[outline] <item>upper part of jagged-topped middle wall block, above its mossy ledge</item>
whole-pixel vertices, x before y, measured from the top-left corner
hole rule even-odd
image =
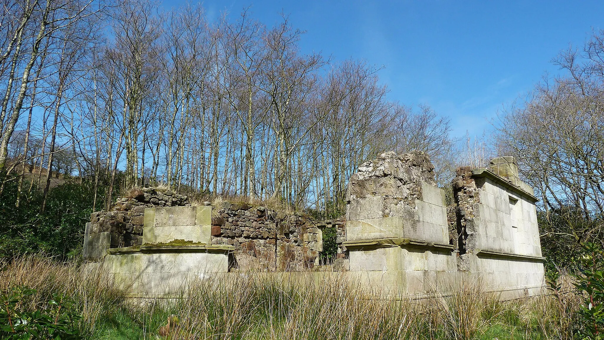
[[[448,244],[445,193],[433,170],[419,151],[387,152],[362,164],[348,187],[347,241],[404,237]]]

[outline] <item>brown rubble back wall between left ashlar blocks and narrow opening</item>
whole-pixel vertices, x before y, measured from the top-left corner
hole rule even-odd
[[[225,202],[212,220],[212,243],[233,245],[236,268],[277,271],[312,268],[322,250],[321,231],[299,213],[287,215]]]

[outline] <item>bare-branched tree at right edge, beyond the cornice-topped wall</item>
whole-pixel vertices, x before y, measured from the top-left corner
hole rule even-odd
[[[565,74],[545,78],[498,126],[499,153],[518,158],[541,198],[542,237],[575,245],[601,239],[604,226],[603,57],[602,31],[583,51],[564,51]]]

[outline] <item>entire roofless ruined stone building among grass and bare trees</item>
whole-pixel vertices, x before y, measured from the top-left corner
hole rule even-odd
[[[345,271],[400,297],[476,281],[503,298],[535,295],[544,281],[536,197],[512,157],[458,168],[452,202],[422,152],[384,153],[350,178],[344,219],[313,221],[225,202],[191,207],[184,196],[133,190],[86,226],[84,257],[129,281],[137,297],[165,297],[216,272]],[[324,228],[335,228],[335,265],[318,266]]]

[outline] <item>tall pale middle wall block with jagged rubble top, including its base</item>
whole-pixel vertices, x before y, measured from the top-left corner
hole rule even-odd
[[[432,170],[425,153],[389,152],[350,178],[344,246],[361,280],[405,295],[457,274],[445,193]]]

